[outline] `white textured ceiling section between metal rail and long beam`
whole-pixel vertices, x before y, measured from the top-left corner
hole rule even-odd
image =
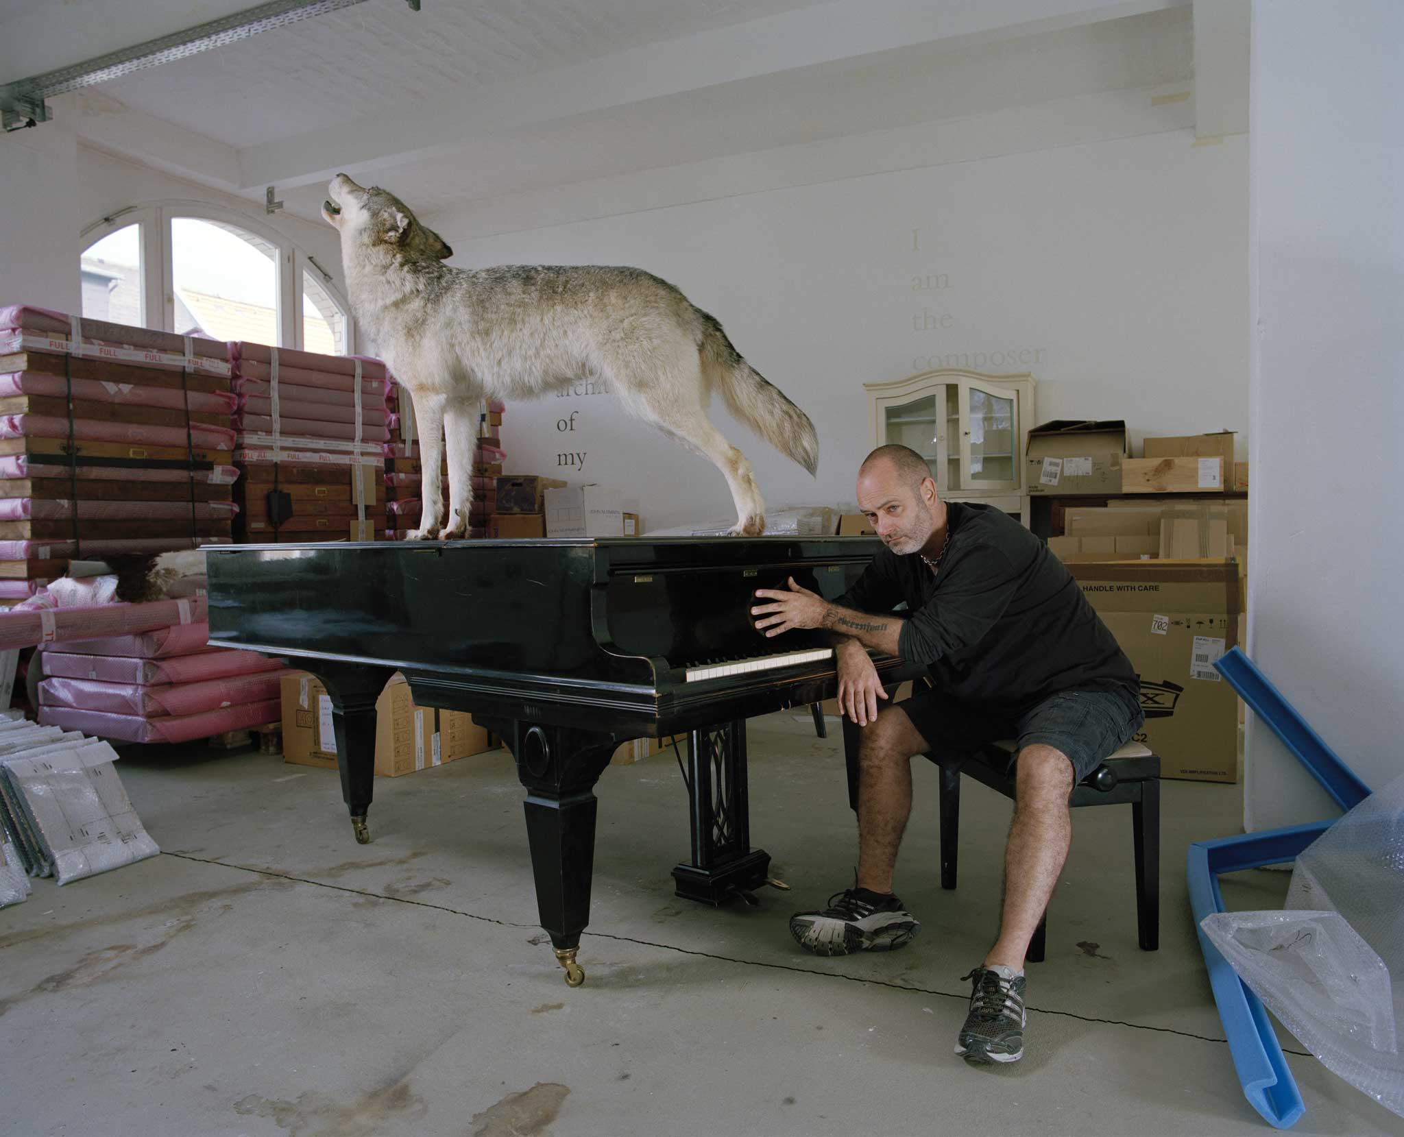
[[[234,147],[463,105],[504,80],[823,0],[366,0],[104,84]]]

